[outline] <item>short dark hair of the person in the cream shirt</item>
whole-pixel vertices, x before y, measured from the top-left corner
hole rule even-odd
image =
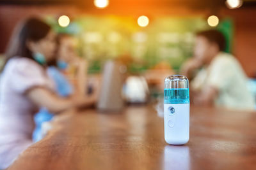
[[[208,41],[216,43],[219,46],[220,51],[225,51],[227,42],[224,35],[220,31],[215,29],[200,31],[196,33],[196,36],[204,36],[204,38],[206,38]]]

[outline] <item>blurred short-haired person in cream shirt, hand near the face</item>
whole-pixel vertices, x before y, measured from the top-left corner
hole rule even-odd
[[[181,69],[191,80],[191,101],[201,106],[253,110],[255,101],[246,87],[246,74],[239,61],[224,52],[225,47],[220,31],[197,33],[194,57]]]

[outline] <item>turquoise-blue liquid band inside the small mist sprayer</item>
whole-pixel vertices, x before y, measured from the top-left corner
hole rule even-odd
[[[165,104],[189,103],[189,89],[164,89]]]

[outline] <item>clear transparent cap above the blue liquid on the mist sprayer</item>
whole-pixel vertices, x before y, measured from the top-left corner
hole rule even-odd
[[[188,89],[188,78],[182,75],[168,76],[164,80],[164,89]]]

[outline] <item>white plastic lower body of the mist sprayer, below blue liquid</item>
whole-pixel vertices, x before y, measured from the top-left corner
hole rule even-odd
[[[170,107],[174,108],[174,113]],[[164,139],[170,145],[188,143],[189,104],[164,104]]]

